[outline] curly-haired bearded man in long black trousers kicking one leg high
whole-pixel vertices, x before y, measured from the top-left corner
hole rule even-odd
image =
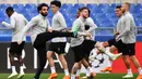
[[[76,31],[74,32],[60,32],[50,29],[49,21],[46,18],[48,14],[48,5],[46,3],[42,3],[38,5],[37,10],[39,14],[33,17],[29,23],[23,28],[21,31],[21,37],[19,37],[17,43],[21,44],[23,37],[26,36],[28,31],[32,39],[33,47],[37,50],[39,66],[35,74],[34,79],[39,79],[42,71],[44,70],[46,64],[46,41],[55,38],[55,37],[75,37]]]

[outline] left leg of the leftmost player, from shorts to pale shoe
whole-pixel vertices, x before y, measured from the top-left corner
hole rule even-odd
[[[16,69],[15,69],[15,61],[14,61],[16,45],[17,45],[16,42],[11,42],[9,57],[10,57],[12,74],[8,78],[12,78],[17,75]]]

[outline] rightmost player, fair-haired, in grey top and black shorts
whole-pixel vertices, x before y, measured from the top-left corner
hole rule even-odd
[[[117,36],[116,40],[118,40],[118,42],[125,43],[123,45],[125,49],[121,47],[125,50],[125,52],[122,53],[122,58],[128,70],[128,74],[122,78],[133,77],[133,75],[131,74],[130,61],[127,56],[129,55],[130,60],[132,61],[132,63],[134,64],[134,66],[139,71],[139,76],[137,79],[142,79],[142,68],[140,66],[138,58],[135,57],[137,27],[133,16],[129,12],[129,9],[130,3],[125,2],[121,8],[123,16],[121,17],[119,24],[117,25],[119,35]]]

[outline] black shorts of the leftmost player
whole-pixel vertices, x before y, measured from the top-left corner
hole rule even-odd
[[[22,55],[22,50],[24,49],[25,41],[23,41],[21,44],[17,44],[17,42],[11,42],[10,44],[10,53]]]

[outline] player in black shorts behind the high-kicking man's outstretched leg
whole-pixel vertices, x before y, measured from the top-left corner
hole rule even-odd
[[[59,9],[61,6],[61,2],[60,1],[51,1],[50,5],[51,5],[52,13],[54,13],[52,26],[51,26],[52,30],[58,30],[58,31],[64,30],[67,28],[67,24],[66,24],[63,15],[59,12]],[[52,55],[55,53],[58,54],[58,58],[63,66],[63,69],[64,69],[63,79],[70,79],[68,64],[67,64],[67,61],[66,61],[64,54],[63,54],[66,52],[64,51],[66,42],[67,42],[66,37],[61,37],[61,38],[54,38],[51,40],[51,43],[49,44],[49,49],[47,52],[47,60],[49,62],[51,75],[48,77],[48,79],[52,79],[52,78],[57,77],[55,63],[52,60]]]

